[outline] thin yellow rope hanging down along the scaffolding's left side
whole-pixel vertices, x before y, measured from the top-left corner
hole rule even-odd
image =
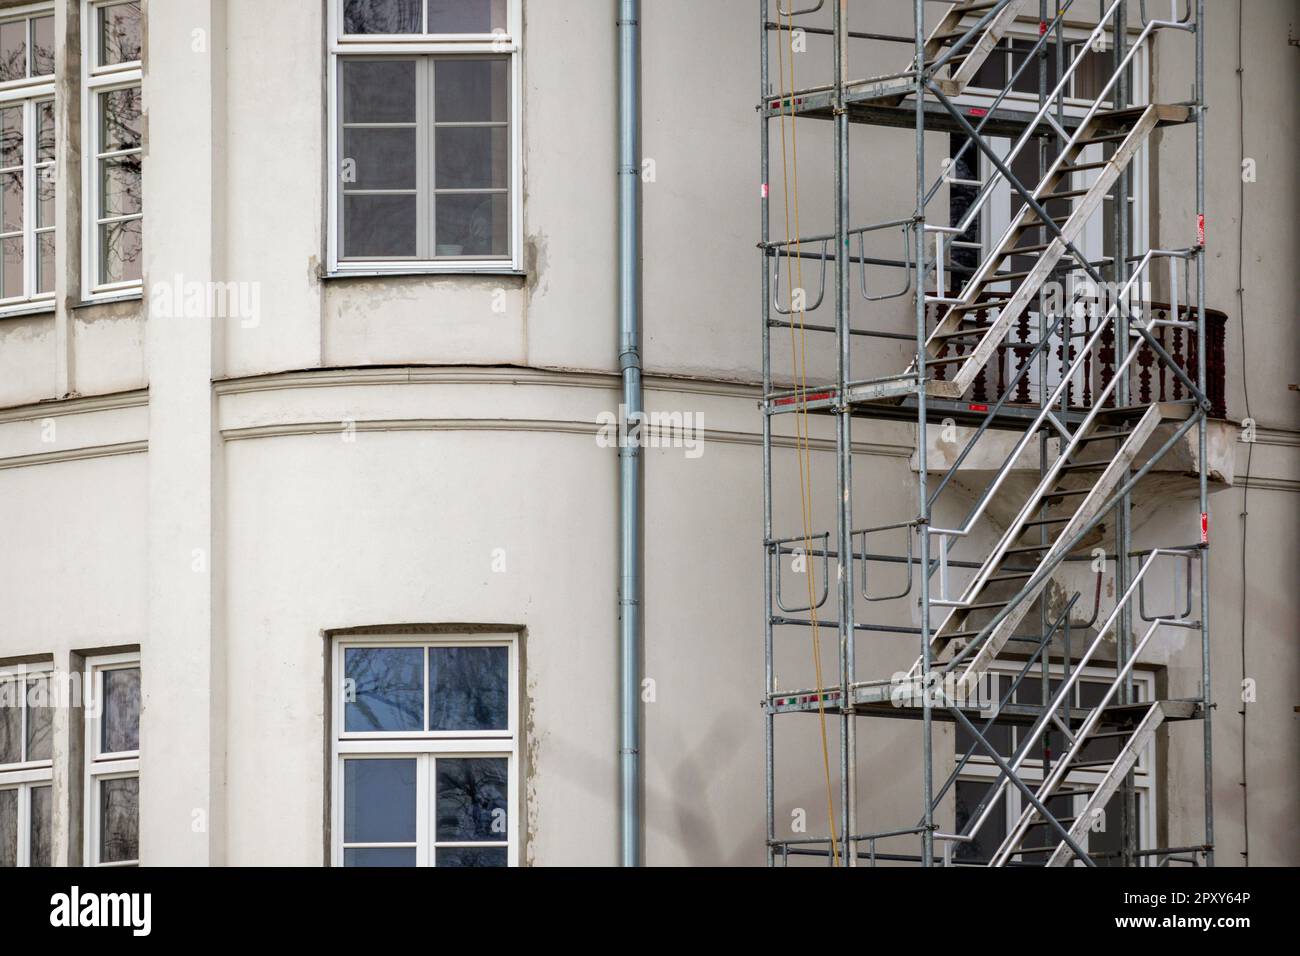
[[[793,8],[793,5],[792,5]],[[786,29],[784,31],[777,30],[777,43],[776,43],[776,56],[777,56],[777,75],[780,77],[779,91],[781,95],[781,112],[780,112],[780,126],[781,126],[781,186],[783,198],[785,204],[785,289],[786,297],[789,297],[789,326],[790,326],[790,364],[792,376],[796,380],[794,386],[794,401],[798,403],[798,412],[794,415],[794,436],[796,436],[796,450],[800,459],[800,516],[803,522],[803,559],[809,561],[809,551],[812,546],[812,450],[809,441],[809,412],[807,412],[807,329],[803,324],[803,306],[806,293],[803,293],[803,258],[800,255],[800,150],[798,150],[798,131],[796,129],[794,120],[794,53],[790,53],[790,96],[789,96],[789,109],[790,109],[790,157],[786,159],[785,150],[785,43],[793,36],[794,17],[793,13],[786,12]],[[780,7],[777,7],[777,26],[780,26]],[[793,183],[792,183],[793,179]],[[792,235],[790,235],[790,198],[793,195],[794,200],[794,235],[793,235],[793,248],[792,248]],[[792,261],[793,260],[793,261]],[[780,268],[780,267],[777,267]],[[796,276],[797,273],[797,276]],[[796,278],[798,285],[796,286]],[[794,334],[794,290],[798,287],[800,303],[798,303],[798,337]],[[829,542],[828,542],[829,544]],[[780,555],[777,555],[780,557]],[[842,555],[841,555],[842,561]],[[816,670],[816,711],[818,722],[822,728],[822,770],[826,777],[826,810],[827,810],[827,825],[831,834],[831,862],[835,866],[840,865],[840,847],[838,840],[835,836],[835,791],[831,787],[831,747],[827,740],[826,730],[826,701],[823,700],[823,676],[822,676],[822,643],[818,627],[816,617],[816,591],[812,581],[812,567],[811,564],[805,564],[805,578],[809,585],[809,614],[811,622],[812,632],[812,663]],[[829,587],[829,581],[827,583]],[[842,692],[841,689],[841,706],[842,706]]]

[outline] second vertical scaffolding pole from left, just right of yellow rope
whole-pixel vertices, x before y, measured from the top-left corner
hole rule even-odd
[[[857,803],[857,728],[849,706],[853,682],[853,415],[845,401],[850,377],[849,333],[849,112],[844,103],[844,85],[849,78],[849,0],[835,5],[835,328],[837,358],[838,408],[835,418],[836,473],[838,483],[838,568],[840,568],[840,847],[848,866],[857,865],[853,847]]]

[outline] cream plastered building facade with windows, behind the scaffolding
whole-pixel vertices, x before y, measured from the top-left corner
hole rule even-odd
[[[754,7],[656,0],[641,22],[656,865],[766,857]],[[909,4],[853,8],[909,29]],[[1216,861],[1249,842],[1295,864],[1296,25],[1283,0],[1209,8]],[[0,3],[0,862],[616,861],[615,35],[588,0]],[[1139,75],[1190,83],[1160,43]],[[1188,245],[1167,135],[1135,219]],[[854,215],[906,215],[910,169],[879,157],[909,134],[871,146]],[[824,172],[801,173],[807,234]],[[862,499],[902,506],[909,427],[853,438]],[[775,467],[797,492],[796,458]],[[1179,477],[1139,498],[1139,533],[1178,536]],[[880,641],[878,675],[915,656]],[[1199,693],[1183,650],[1140,682]],[[807,685],[806,650],[783,653]],[[898,723],[859,740],[880,830],[919,805]],[[816,731],[790,734],[779,817],[816,819]],[[1199,839],[1187,749],[1141,765],[1150,845]]]

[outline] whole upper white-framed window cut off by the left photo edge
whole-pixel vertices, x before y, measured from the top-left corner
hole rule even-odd
[[[0,10],[0,311],[55,298],[55,9]]]

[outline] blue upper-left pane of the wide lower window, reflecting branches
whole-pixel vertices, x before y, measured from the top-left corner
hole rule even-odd
[[[343,728],[424,730],[422,671],[422,648],[347,648]]]

